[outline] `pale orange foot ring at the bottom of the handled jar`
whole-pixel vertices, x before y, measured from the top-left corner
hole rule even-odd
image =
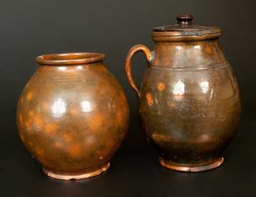
[[[178,164],[172,161],[164,161],[163,158],[159,158],[159,162],[162,166],[168,169],[173,169],[176,171],[189,171],[189,172],[198,172],[198,171],[207,171],[209,169],[214,169],[220,166],[224,161],[224,157],[220,157],[211,162],[204,162],[198,164]]]

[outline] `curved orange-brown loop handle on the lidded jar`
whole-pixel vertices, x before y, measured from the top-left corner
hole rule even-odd
[[[133,79],[132,79],[132,72],[131,72],[131,59],[132,56],[134,56],[134,54],[138,51],[143,51],[147,61],[150,63],[152,61],[152,52],[148,49],[148,47],[146,47],[145,45],[135,45],[134,47],[132,47],[127,56],[126,56],[126,60],[125,60],[125,73],[127,76],[127,79],[130,83],[130,85],[132,86],[132,88],[136,91],[138,98],[140,99],[140,90],[138,88],[138,86],[136,86],[136,84],[134,83]]]

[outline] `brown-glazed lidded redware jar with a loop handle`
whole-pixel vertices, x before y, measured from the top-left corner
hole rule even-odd
[[[195,26],[188,13],[178,24],[154,28],[154,52],[136,45],[125,70],[139,100],[143,132],[161,164],[179,171],[205,171],[223,162],[239,123],[239,88],[218,43],[220,28]],[[148,69],[139,89],[131,58],[143,51]]]

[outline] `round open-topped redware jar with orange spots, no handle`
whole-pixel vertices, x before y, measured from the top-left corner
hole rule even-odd
[[[101,53],[49,54],[22,91],[19,136],[50,177],[99,175],[129,124],[127,99]]]

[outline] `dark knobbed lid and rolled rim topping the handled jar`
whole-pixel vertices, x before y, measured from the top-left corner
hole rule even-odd
[[[219,37],[221,35],[221,29],[218,27],[205,27],[205,26],[193,25],[192,24],[193,17],[189,13],[182,13],[178,15],[176,19],[177,19],[177,24],[175,25],[161,26],[161,27],[154,28],[152,32],[153,40],[156,40],[156,41],[207,40],[207,39]]]

